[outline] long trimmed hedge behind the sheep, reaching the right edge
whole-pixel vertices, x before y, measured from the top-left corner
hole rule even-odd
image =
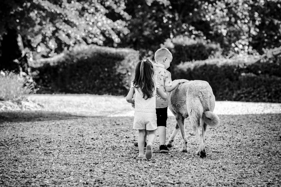
[[[281,64],[254,56],[218,58],[177,65],[173,79],[205,80],[218,101],[281,103]]]

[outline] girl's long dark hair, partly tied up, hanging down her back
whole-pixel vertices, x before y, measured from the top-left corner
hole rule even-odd
[[[140,88],[140,90],[143,92],[143,98],[145,100],[153,96],[153,91],[155,89],[153,74],[153,65],[149,58],[138,62],[133,84],[135,88]]]

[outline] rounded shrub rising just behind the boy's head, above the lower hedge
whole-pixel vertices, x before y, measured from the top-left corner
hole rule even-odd
[[[207,43],[202,39],[191,39],[189,37],[177,36],[167,39],[161,47],[168,48],[173,54],[173,63],[192,60],[205,60],[209,57],[220,55],[220,45]]]

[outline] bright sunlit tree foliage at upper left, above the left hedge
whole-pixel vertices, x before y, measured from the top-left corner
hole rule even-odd
[[[70,1],[70,0],[4,0],[1,3],[0,37],[7,28],[16,30],[27,48],[39,57],[53,56],[75,44],[99,44],[106,39],[114,43],[128,30],[125,22],[107,18],[114,10],[124,20],[122,1]]]

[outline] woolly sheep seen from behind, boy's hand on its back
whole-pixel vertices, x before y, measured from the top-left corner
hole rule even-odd
[[[215,108],[215,96],[211,86],[206,81],[189,81],[179,84],[169,93],[168,97],[169,109],[176,117],[177,124],[170,136],[167,146],[169,148],[172,147],[174,138],[180,129],[183,138],[183,144],[180,151],[188,151],[184,119],[189,117],[199,141],[199,150],[197,154],[201,158],[206,157],[204,144],[207,125],[212,127],[220,122],[217,115],[213,113]],[[202,131],[200,130],[200,124]]]

